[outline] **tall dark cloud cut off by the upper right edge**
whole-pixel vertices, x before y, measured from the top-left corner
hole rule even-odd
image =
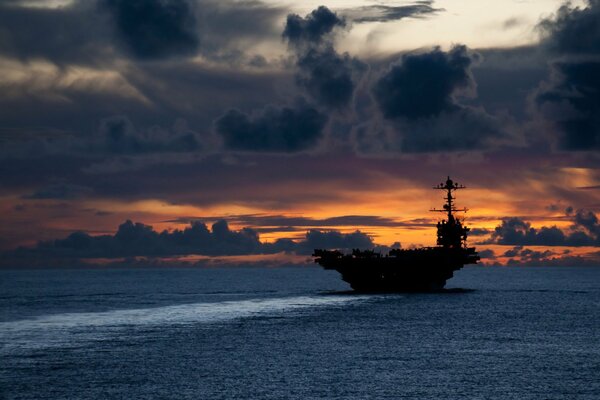
[[[558,57],[533,96],[542,117],[558,130],[562,150],[600,148],[600,1],[563,5],[539,25],[542,46]]]

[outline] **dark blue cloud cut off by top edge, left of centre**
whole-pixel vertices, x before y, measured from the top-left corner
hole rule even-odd
[[[124,47],[137,58],[190,55],[199,47],[194,10],[187,0],[101,0]]]

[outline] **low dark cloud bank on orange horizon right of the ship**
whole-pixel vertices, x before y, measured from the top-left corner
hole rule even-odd
[[[529,222],[513,217],[502,221],[485,243],[515,246],[598,246],[600,224],[590,211],[578,210],[569,232],[551,226],[533,228]]]

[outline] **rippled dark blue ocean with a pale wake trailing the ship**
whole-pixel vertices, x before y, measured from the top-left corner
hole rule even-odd
[[[600,399],[600,268],[1,270],[2,399]]]

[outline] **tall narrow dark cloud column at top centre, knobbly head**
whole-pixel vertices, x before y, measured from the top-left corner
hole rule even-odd
[[[288,15],[283,31],[283,37],[296,54],[298,85],[315,101],[332,109],[350,104],[355,81],[366,69],[359,60],[335,51],[332,32],[344,26],[342,18],[321,6],[305,18]]]

